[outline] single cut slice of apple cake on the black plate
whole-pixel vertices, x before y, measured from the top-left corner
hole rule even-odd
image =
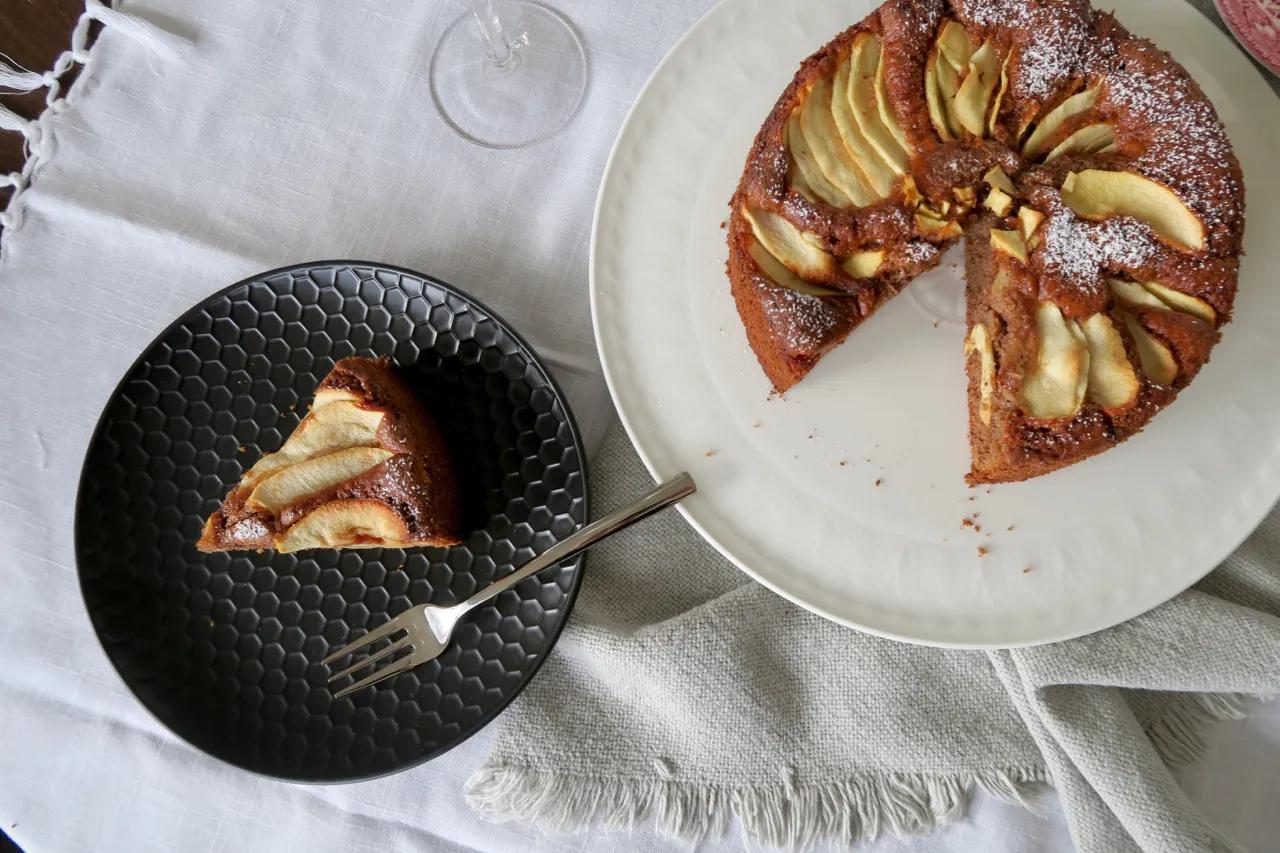
[[[461,542],[435,421],[387,359],[343,359],[297,429],[205,523],[201,551],[408,548]]]

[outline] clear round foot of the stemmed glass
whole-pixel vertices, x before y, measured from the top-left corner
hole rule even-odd
[[[530,0],[494,3],[511,60],[485,54],[480,24],[449,24],[431,56],[431,100],[461,137],[490,149],[518,149],[554,134],[586,92],[586,51],[558,12]]]

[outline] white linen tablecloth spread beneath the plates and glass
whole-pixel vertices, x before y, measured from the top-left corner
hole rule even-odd
[[[129,18],[108,22],[65,109],[28,128],[41,163],[0,256],[0,829],[29,853],[690,849],[484,822],[462,786],[490,733],[358,785],[221,765],[133,699],[76,584],[72,498],[111,388],[174,316],[261,269],[365,257],[453,282],[532,339],[603,434],[595,188],[644,79],[709,0],[557,5],[593,79],[570,128],[524,151],[470,146],[435,115],[428,59],[463,5],[430,0],[124,0]],[[234,143],[212,158],[211,138]],[[1212,736],[1189,788],[1238,840],[1275,849],[1280,708]],[[1051,803],[1041,817],[979,794],[968,821],[869,849],[1068,850]]]

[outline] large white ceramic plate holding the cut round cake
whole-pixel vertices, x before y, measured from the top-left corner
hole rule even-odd
[[[692,471],[699,493],[681,511],[760,583],[897,639],[1044,643],[1185,589],[1280,494],[1276,96],[1192,6],[1116,6],[1199,81],[1243,163],[1235,320],[1146,432],[989,492],[964,484],[964,328],[948,319],[961,316],[959,250],[785,400],[769,398],[724,277],[721,222],[760,122],[800,60],[873,4],[724,0],[645,86],[596,205],[596,343],[650,471]],[[980,532],[961,526],[974,514]]]

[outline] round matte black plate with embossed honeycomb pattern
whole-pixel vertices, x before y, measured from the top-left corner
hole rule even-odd
[[[202,555],[205,516],[276,450],[338,359],[392,356],[462,485],[456,548]],[[273,776],[355,780],[492,720],[556,642],[581,558],[458,626],[436,661],[334,699],[320,660],[410,607],[458,602],[586,520],[577,425],[511,327],[453,287],[358,261],[255,275],[166,329],[115,389],[76,507],[81,589],[108,657],[174,733]],[[339,683],[346,684],[346,681]]]

